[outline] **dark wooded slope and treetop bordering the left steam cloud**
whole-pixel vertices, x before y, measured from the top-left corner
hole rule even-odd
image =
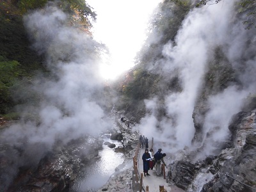
[[[90,35],[96,14],[84,1],[47,1],[47,0],[4,0],[0,2],[0,115],[18,118],[13,113],[15,106],[40,100],[40,95],[26,90],[27,97],[13,97],[33,83],[38,72],[51,76],[44,65],[44,55],[39,55],[32,47],[24,28],[23,16],[28,12],[54,3],[70,15],[70,26],[80,28]],[[76,17],[74,17],[76,16]]]

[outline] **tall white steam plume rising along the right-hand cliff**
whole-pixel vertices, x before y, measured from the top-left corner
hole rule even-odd
[[[256,47],[252,42],[255,30],[244,30],[242,23],[245,19],[236,18],[234,3],[236,1],[221,1],[219,4],[191,10],[179,29],[176,44],[170,42],[164,45],[162,52],[165,60],[156,61],[157,64],[153,65],[152,72],[160,68],[161,75],[166,78],[178,71],[182,92],[165,96],[166,116],[172,118],[163,118],[160,122],[157,122],[154,112],[159,106],[157,98],[145,100],[148,113],[137,128],[145,136],[154,136],[154,141],[169,143],[161,146],[169,152],[185,146],[191,147],[195,133],[193,109],[207,71],[207,62],[212,60],[211,50],[214,47],[223,48],[242,86],[238,88],[230,85],[208,99],[210,108],[204,118],[204,138],[207,132],[214,131],[214,134],[211,140],[202,141],[202,145],[207,143],[205,154],[212,154],[213,143],[225,140],[232,115],[239,112],[243,99],[255,92]]]

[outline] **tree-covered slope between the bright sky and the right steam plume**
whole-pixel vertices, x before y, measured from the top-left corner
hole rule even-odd
[[[164,81],[159,74],[147,70],[149,65],[155,65],[156,61],[164,59],[163,46],[170,41],[175,41],[177,31],[189,12],[190,1],[166,0],[159,4],[159,10],[152,15],[152,22],[148,26],[148,38],[136,57],[134,67],[125,79],[120,80],[120,109],[132,111],[133,115],[145,114],[144,99],[157,95],[163,99],[168,91],[179,92],[181,90],[178,77],[170,81]]]

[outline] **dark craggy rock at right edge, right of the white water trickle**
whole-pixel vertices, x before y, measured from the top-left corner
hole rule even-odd
[[[222,150],[209,171],[214,178],[204,184],[206,191],[256,191],[255,113],[240,112],[233,117],[229,129],[233,148]]]

